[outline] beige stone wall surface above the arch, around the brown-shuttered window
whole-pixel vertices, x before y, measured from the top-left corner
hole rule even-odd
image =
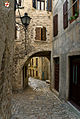
[[[27,61],[31,54],[37,53],[39,51],[51,51],[52,43],[52,13],[46,10],[40,11],[32,7],[32,0],[24,0],[23,9],[20,9],[21,16],[25,12],[32,18],[30,25],[27,29],[27,50],[25,51],[25,32],[20,26],[20,34],[15,41],[15,77],[13,82],[14,89],[21,89],[23,85],[21,70],[24,63]],[[18,10],[16,10],[16,16],[19,17]],[[19,18],[16,21],[21,24]],[[35,40],[35,28],[37,26],[46,27],[46,41],[36,41]],[[19,32],[18,32],[19,33]],[[27,54],[27,55],[26,55]]]

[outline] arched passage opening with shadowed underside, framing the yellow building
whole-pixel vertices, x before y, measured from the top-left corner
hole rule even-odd
[[[28,86],[29,77],[44,81],[50,80],[50,55],[50,52],[38,52],[30,56],[24,63],[22,68],[23,89]],[[47,67],[47,65],[49,66]]]

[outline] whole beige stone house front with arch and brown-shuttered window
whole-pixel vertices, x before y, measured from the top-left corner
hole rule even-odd
[[[15,75],[13,90],[23,89],[23,87],[27,85],[27,83],[25,83],[25,86],[23,86],[22,69],[25,64],[26,66],[28,65],[31,57],[40,55],[46,56],[50,59],[52,47],[52,11],[51,9],[47,10],[47,0],[44,0],[44,2],[41,3],[42,6],[38,6],[38,8],[38,1],[35,1],[35,5],[34,1],[35,0],[23,0],[19,6],[20,9],[16,10],[17,38],[15,40]],[[20,15],[23,16],[24,13],[28,13],[28,16],[31,17],[31,21],[26,32],[26,49],[25,32],[22,25],[20,25],[21,20],[19,18]]]

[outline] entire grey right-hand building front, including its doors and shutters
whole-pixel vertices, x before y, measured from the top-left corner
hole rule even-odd
[[[52,51],[54,92],[80,106],[80,0],[54,0]]]

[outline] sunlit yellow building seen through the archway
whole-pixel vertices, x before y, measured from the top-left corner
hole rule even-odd
[[[46,57],[33,57],[28,64],[28,77],[50,80],[50,61]]]

